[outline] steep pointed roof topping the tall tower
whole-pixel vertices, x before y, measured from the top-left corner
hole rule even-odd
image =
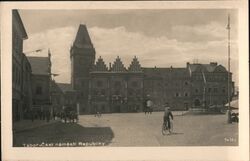
[[[86,25],[80,24],[73,46],[78,48],[93,48]]]

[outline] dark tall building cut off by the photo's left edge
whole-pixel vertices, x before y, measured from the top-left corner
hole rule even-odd
[[[17,10],[12,10],[12,117],[23,119],[31,108],[31,66],[23,53],[28,35]]]

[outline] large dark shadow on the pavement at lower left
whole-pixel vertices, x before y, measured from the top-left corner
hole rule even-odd
[[[114,133],[110,127],[83,127],[76,123],[54,123],[13,134],[14,147],[105,146]]]

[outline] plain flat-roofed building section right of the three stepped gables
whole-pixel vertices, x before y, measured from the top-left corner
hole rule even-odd
[[[164,109],[168,103],[172,109],[191,107],[191,81],[186,68],[143,68],[144,97],[150,96],[155,110]]]

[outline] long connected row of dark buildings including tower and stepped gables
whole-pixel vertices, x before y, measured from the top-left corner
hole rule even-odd
[[[117,57],[108,66],[95,48],[85,25],[80,25],[70,50],[71,85],[80,113],[143,111],[149,97],[154,110],[168,103],[173,109],[224,105],[228,102],[228,72],[215,62],[184,68],[144,68],[131,58],[129,67]],[[234,82],[230,73],[230,93]]]

